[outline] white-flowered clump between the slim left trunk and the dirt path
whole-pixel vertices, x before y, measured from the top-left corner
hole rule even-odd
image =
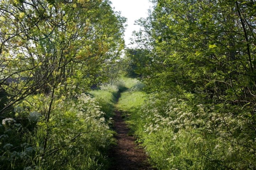
[[[77,100],[73,101],[65,98],[55,101],[48,125],[51,131],[48,134],[48,147],[44,151],[45,161],[37,161],[40,169],[63,166],[64,162],[65,169],[75,166],[103,169],[106,165],[104,152],[114,141],[104,118],[105,113],[90,95],[82,93],[76,97]],[[38,126],[36,141],[43,141],[47,127],[44,122]]]

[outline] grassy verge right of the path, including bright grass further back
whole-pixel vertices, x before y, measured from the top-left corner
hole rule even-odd
[[[154,168],[249,169],[246,168],[248,164],[241,161],[238,165],[237,161],[249,157],[246,161],[255,166],[254,157],[244,154],[244,148],[238,143],[232,147],[232,143],[223,142],[219,133],[224,132],[213,133],[210,126],[215,124],[211,124],[212,119],[221,115],[206,111],[203,105],[192,107],[175,94],[162,92],[146,95],[139,90],[139,82],[134,81],[126,79],[129,89],[121,93],[117,108],[124,111],[123,117],[126,117],[131,133],[145,148]],[[233,119],[226,118],[225,121],[233,124]],[[235,153],[237,158],[233,156]]]

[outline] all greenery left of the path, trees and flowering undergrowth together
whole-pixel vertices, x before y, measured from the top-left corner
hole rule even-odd
[[[0,169],[106,169],[109,116],[85,92],[117,75],[125,21],[108,0],[0,1]]]

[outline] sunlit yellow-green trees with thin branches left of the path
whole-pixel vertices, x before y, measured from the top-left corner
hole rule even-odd
[[[49,145],[54,101],[74,98],[92,84],[108,81],[103,70],[124,48],[125,21],[108,0],[0,2],[0,116],[25,122],[24,134],[36,133],[26,129],[29,115],[14,110],[23,103],[36,108],[29,98],[43,96],[42,157],[54,148]],[[13,135],[22,138],[20,132]]]

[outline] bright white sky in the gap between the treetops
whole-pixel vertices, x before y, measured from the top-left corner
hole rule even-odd
[[[152,7],[152,3],[149,0],[111,0],[114,11],[121,11],[121,16],[127,18],[126,32],[124,33],[124,40],[126,41],[127,47],[130,43],[129,38],[132,38],[132,32],[138,31],[139,26],[134,25],[134,21],[139,18],[145,18],[148,16],[148,9]]]

